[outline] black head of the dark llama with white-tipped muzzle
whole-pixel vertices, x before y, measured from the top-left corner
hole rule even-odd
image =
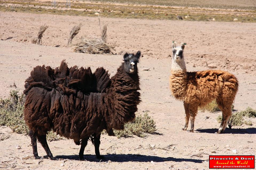
[[[135,55],[132,53],[124,54],[124,71],[128,74],[137,73],[137,63],[139,63],[140,51]]]

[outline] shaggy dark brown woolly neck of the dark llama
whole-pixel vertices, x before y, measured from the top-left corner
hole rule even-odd
[[[112,112],[109,113],[109,128],[123,129],[124,124],[135,118],[140,103],[138,74],[129,75],[123,70],[124,64],[111,78],[111,87],[107,91],[107,100]]]

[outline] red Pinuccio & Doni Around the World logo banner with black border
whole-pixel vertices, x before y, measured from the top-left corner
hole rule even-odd
[[[209,155],[210,169],[254,169],[255,156]]]

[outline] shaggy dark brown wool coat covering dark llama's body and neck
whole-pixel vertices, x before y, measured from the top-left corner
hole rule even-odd
[[[29,129],[39,135],[53,129],[76,144],[104,129],[109,135],[123,129],[140,102],[139,77],[125,73],[123,65],[111,79],[102,67],[94,73],[90,67],[68,68],[64,61],[56,69],[35,67],[24,90]]]

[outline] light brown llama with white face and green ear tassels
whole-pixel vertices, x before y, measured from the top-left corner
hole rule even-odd
[[[231,106],[237,94],[238,80],[233,74],[221,70],[187,72],[183,50],[184,44],[180,47],[176,47],[175,43],[172,44],[172,75],[170,77],[173,96],[184,103],[186,121],[183,130],[187,130],[190,118],[190,132],[193,132],[198,107],[216,99],[222,111],[222,121],[216,133],[223,133],[232,114]]]

